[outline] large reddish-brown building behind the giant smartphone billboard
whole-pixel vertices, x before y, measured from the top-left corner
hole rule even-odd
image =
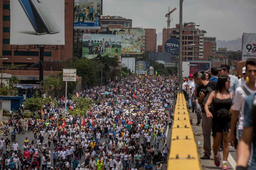
[[[73,57],[73,8],[74,1],[65,0],[65,45],[45,46],[47,48],[44,51],[45,76],[58,74],[65,67],[65,63],[62,61]],[[9,0],[3,0],[0,3],[0,39],[0,53],[4,58],[8,58],[8,60],[4,60],[4,65],[27,65],[4,71],[5,73],[23,77],[24,75],[39,75],[39,64],[34,65],[39,60],[39,49],[35,48],[34,45],[10,45]],[[27,58],[32,59],[27,60]],[[31,79],[31,81],[35,83],[36,80]]]

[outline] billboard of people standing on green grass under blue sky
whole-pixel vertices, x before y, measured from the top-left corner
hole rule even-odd
[[[121,35],[112,34],[83,34],[82,57],[91,59],[109,55],[120,60],[121,55]]]

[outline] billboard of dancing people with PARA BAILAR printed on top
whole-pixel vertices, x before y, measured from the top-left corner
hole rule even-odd
[[[74,1],[74,29],[100,29],[101,1]]]

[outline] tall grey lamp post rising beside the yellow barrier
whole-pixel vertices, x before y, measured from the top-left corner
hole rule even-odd
[[[182,1],[180,0],[180,56],[179,56],[179,74],[178,74],[178,81],[179,81],[179,93],[182,94]]]

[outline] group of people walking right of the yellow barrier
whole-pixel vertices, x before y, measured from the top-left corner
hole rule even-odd
[[[242,78],[230,75],[230,67],[221,64],[210,72],[201,70],[189,75],[183,83],[189,109],[196,112],[197,125],[202,123],[201,159],[210,159],[213,151],[214,163],[222,170],[228,169],[229,145],[237,149],[237,170],[256,169],[255,76],[256,60],[250,58],[242,69]]]

